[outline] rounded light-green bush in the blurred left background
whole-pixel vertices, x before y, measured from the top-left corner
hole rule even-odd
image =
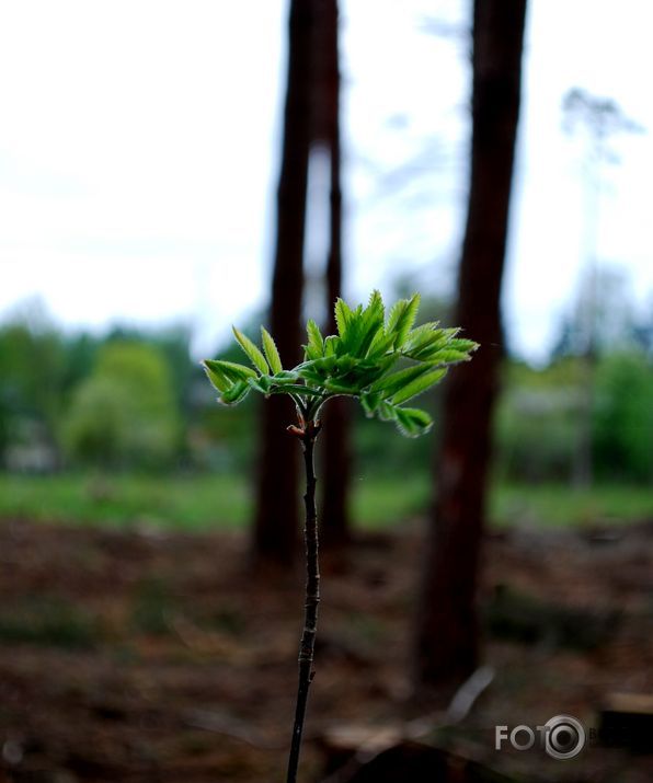
[[[106,345],[76,390],[61,435],[73,460],[148,468],[169,462],[179,419],[162,356],[137,343]]]

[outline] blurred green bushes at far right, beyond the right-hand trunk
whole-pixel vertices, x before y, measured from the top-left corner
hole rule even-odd
[[[582,423],[586,366],[576,357],[541,370],[509,362],[496,416],[502,479],[569,481]],[[608,354],[593,372],[593,465],[596,476],[653,477],[653,367],[641,353]]]

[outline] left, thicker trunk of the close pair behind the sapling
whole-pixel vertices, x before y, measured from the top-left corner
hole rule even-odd
[[[270,325],[284,366],[300,361],[303,238],[311,140],[313,0],[291,0],[276,249]],[[295,411],[285,396],[262,406],[261,451],[252,553],[256,564],[287,565],[298,540],[298,449],[286,426]]]

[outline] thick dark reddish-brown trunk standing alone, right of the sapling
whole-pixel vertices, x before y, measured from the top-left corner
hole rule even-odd
[[[502,357],[501,280],[526,0],[476,0],[470,192],[454,323],[481,343],[444,390],[436,499],[421,586],[416,687],[447,700],[479,664],[477,586]]]

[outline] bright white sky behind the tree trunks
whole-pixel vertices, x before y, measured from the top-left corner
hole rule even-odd
[[[450,284],[468,49],[421,23],[467,14],[458,0],[344,3],[352,298],[400,269]],[[264,302],[285,16],[285,0],[0,0],[0,313],[39,295],[71,326],[184,319],[206,353]],[[561,130],[571,87],[651,129],[614,142],[599,256],[641,299],[653,290],[652,21],[641,0],[530,2],[504,301],[511,344],[534,359],[583,254],[580,145]]]

